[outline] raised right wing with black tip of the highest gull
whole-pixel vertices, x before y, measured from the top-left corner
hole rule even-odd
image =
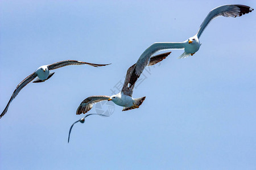
[[[197,37],[199,38],[201,36],[209,22],[217,16],[237,17],[248,14],[251,11],[253,11],[253,8],[245,5],[222,5],[214,8],[209,12],[207,17],[204,19],[204,22],[200,25],[199,31],[197,32]]]

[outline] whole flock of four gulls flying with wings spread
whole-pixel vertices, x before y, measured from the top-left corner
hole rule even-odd
[[[237,16],[248,14],[251,11],[253,11],[253,8],[245,5],[222,5],[214,8],[209,12],[207,17],[204,19],[203,23],[200,25],[199,31],[197,31],[195,36],[189,37],[189,39],[183,42],[155,42],[141,54],[137,63],[129,67],[129,69],[127,70],[125,82],[123,83],[121,92],[113,96],[87,97],[84,101],[82,101],[82,103],[77,108],[76,114],[87,113],[88,111],[90,111],[90,109],[92,109],[94,103],[98,103],[102,100],[113,101],[115,104],[123,107],[122,111],[128,111],[130,109],[139,108],[139,106],[143,103],[146,97],[140,97],[136,99],[133,98],[133,88],[137,79],[142,74],[146,66],[155,65],[156,63],[165,59],[171,53],[171,52],[167,52],[167,53],[162,53],[157,56],[154,56],[156,52],[159,52],[161,50],[184,49],[184,53],[181,54],[179,58],[187,58],[189,56],[193,56],[193,54],[195,54],[199,50],[201,46],[199,38],[211,20],[213,20],[217,16],[236,18]],[[51,76],[54,74],[54,72],[49,73],[49,70],[54,70],[54,69],[58,69],[60,67],[69,66],[69,65],[90,65],[94,67],[99,67],[99,66],[106,66],[109,64],[96,64],[96,63],[88,63],[88,62],[81,62],[81,61],[75,61],[75,60],[66,60],[66,61],[56,62],[51,65],[40,66],[38,69],[35,70],[34,73],[32,73],[31,75],[28,75],[27,78],[25,78],[24,80],[22,80],[22,82],[18,84],[15,91],[13,92],[13,95],[11,95],[11,99],[7,103],[6,108],[3,110],[2,114],[0,115],[0,118],[6,114],[11,104],[11,101],[13,101],[16,95],[18,95],[19,91],[22,90],[22,88],[25,87],[28,83],[32,82],[32,80],[34,80],[35,78],[36,79],[34,80],[33,83],[44,82],[49,78],[51,78]],[[90,115],[92,114],[87,114],[85,117]],[[85,120],[85,117],[81,118],[79,121],[76,121],[76,122],[83,123]],[[71,129],[73,125],[71,126]],[[71,129],[69,130],[69,135],[71,133]],[[68,137],[68,140],[69,140],[69,137]]]

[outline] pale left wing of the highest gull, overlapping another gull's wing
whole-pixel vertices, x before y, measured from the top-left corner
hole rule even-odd
[[[150,45],[139,57],[136,67],[135,73],[137,75],[141,75],[144,68],[148,65],[150,61],[150,57],[161,50],[170,50],[170,49],[184,49],[184,42],[155,42]]]

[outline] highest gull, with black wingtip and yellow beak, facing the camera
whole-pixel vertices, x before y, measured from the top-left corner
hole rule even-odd
[[[159,52],[160,50],[168,50],[168,49],[184,49],[184,53],[181,54],[179,58],[187,58],[188,56],[193,56],[199,48],[200,48],[200,41],[199,38],[203,33],[204,29],[210,23],[211,20],[216,18],[217,16],[225,16],[225,17],[234,17],[242,16],[244,14],[248,14],[249,12],[253,11],[254,9],[245,6],[245,5],[222,5],[217,8],[214,8],[209,12],[207,17],[204,19],[204,22],[201,24],[199,31],[196,33],[195,36],[190,37],[189,39],[183,42],[155,42],[151,46],[149,46],[139,57],[137,61],[137,66],[135,67],[136,75],[140,75],[147,66],[148,61],[152,54]],[[133,84],[134,82],[130,82]]]

